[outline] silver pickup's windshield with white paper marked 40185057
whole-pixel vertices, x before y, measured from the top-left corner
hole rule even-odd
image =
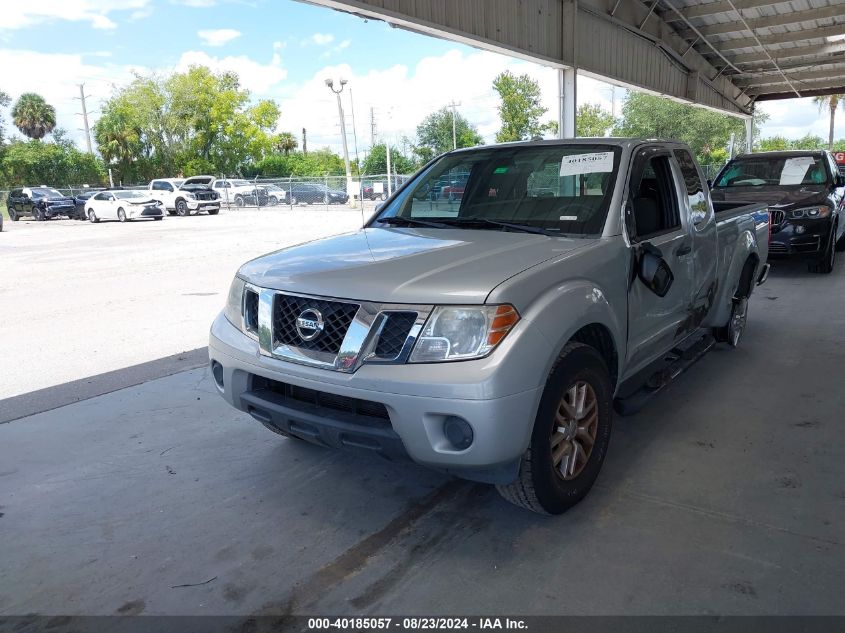
[[[598,235],[620,154],[607,145],[560,144],[449,154],[417,176],[376,221]]]

